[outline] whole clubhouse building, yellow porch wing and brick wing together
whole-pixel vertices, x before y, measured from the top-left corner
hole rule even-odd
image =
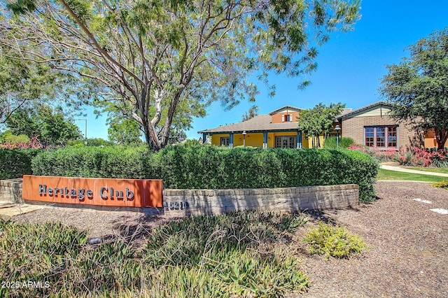
[[[397,122],[389,113],[393,104],[377,101],[357,108],[345,109],[335,119],[342,130],[340,136],[349,137],[356,143],[374,150],[398,150],[424,146],[437,147],[434,132],[417,134],[412,127]],[[250,120],[200,131],[202,140],[216,146],[252,146],[260,148],[311,148],[311,141],[298,129],[297,117],[302,108],[282,106],[267,115]],[[334,125],[334,126],[335,126]],[[335,135],[336,132],[331,135]],[[323,145],[323,136],[320,140]],[[445,146],[448,146],[448,141]]]

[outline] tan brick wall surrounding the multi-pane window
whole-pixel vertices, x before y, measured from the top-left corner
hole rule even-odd
[[[398,146],[409,148],[419,143],[419,136],[409,126],[398,123],[392,118],[383,116],[366,116],[342,118],[342,136],[355,140],[356,143],[364,144],[364,127],[375,125],[398,125]]]

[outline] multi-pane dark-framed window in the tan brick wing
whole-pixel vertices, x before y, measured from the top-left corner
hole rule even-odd
[[[397,126],[365,127],[365,146],[373,148],[396,148]]]

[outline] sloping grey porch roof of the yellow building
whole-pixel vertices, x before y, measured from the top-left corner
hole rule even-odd
[[[205,129],[198,132],[199,134],[218,134],[218,133],[239,133],[239,132],[269,132],[269,131],[291,131],[298,129],[296,122],[272,123],[271,115],[258,115],[247,121],[235,123],[232,125],[224,125],[211,129]]]

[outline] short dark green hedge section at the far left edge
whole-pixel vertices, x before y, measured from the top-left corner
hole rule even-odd
[[[40,149],[0,149],[0,180],[31,174],[31,159]]]

